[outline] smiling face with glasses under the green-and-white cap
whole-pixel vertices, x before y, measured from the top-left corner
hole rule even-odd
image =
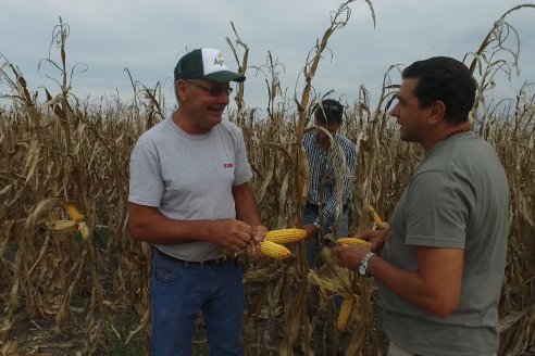
[[[181,115],[177,124],[188,134],[202,135],[223,119],[223,111],[229,102],[228,82],[206,79],[177,80],[175,90]]]

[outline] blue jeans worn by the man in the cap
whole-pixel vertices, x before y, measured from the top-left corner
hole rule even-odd
[[[195,319],[204,316],[211,356],[244,355],[244,283],[239,263],[191,265],[153,253],[150,280],[153,356],[189,356]]]

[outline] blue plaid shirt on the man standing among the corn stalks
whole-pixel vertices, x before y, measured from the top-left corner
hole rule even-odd
[[[327,150],[320,147],[316,132],[309,132],[302,139],[310,169],[307,202],[323,206],[323,219],[318,220],[323,226],[332,226],[335,221],[337,195],[338,199],[341,199],[343,206],[348,206],[351,202],[352,181],[357,170],[354,144],[338,134],[334,139],[336,147],[331,147]],[[339,168],[335,168],[335,166],[339,166]],[[336,179],[340,178],[344,181],[338,181],[338,185],[343,185],[344,191],[337,194]]]

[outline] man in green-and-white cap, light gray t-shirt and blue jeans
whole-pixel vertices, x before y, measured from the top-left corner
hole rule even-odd
[[[211,355],[244,355],[241,268],[225,251],[261,255],[261,225],[241,130],[223,119],[244,81],[215,49],[185,54],[175,71],[178,109],[141,135],[130,157],[128,228],[154,245],[152,355],[190,355],[202,312]]]

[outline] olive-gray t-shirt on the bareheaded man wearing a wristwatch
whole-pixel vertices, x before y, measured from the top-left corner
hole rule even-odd
[[[509,188],[490,144],[458,134],[426,153],[390,219],[384,258],[418,269],[416,246],[464,250],[461,297],[447,318],[381,285],[384,327],[399,346],[422,355],[492,355],[499,343]]]

